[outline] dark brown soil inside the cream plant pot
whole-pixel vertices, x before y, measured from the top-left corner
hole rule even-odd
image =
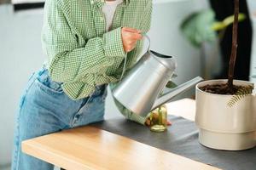
[[[237,91],[240,88],[251,88],[253,89],[253,87],[244,87],[244,86],[233,86],[233,89],[228,88],[228,84],[227,83],[223,83],[223,84],[207,84],[206,86],[201,87],[200,89],[204,92],[210,93],[210,94],[230,94],[230,95],[234,95],[237,93]]]

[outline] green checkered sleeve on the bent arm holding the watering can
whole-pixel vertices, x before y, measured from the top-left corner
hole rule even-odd
[[[77,82],[88,74],[104,73],[115,57],[125,58],[120,27],[85,42],[79,32],[72,31],[57,2],[45,2],[42,31],[49,75],[55,82]]]

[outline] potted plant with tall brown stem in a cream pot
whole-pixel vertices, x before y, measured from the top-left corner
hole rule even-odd
[[[239,0],[235,0],[227,80],[209,80],[196,86],[195,123],[199,141],[218,150],[246,150],[256,145],[256,98],[253,83],[234,80]]]

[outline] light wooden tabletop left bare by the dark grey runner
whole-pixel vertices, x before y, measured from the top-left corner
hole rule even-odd
[[[195,107],[194,100],[183,99],[167,105],[171,114],[179,113],[185,118],[195,111],[178,108],[189,107]],[[67,170],[218,169],[90,126],[23,141],[22,150]]]

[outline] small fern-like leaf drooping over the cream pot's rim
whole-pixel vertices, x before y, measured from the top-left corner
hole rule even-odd
[[[253,93],[253,86],[246,86],[246,87],[241,87],[238,89],[236,94],[232,96],[230,101],[228,102],[228,105],[232,107],[235,105],[238,101],[241,99],[245,98],[247,95],[250,95]]]

